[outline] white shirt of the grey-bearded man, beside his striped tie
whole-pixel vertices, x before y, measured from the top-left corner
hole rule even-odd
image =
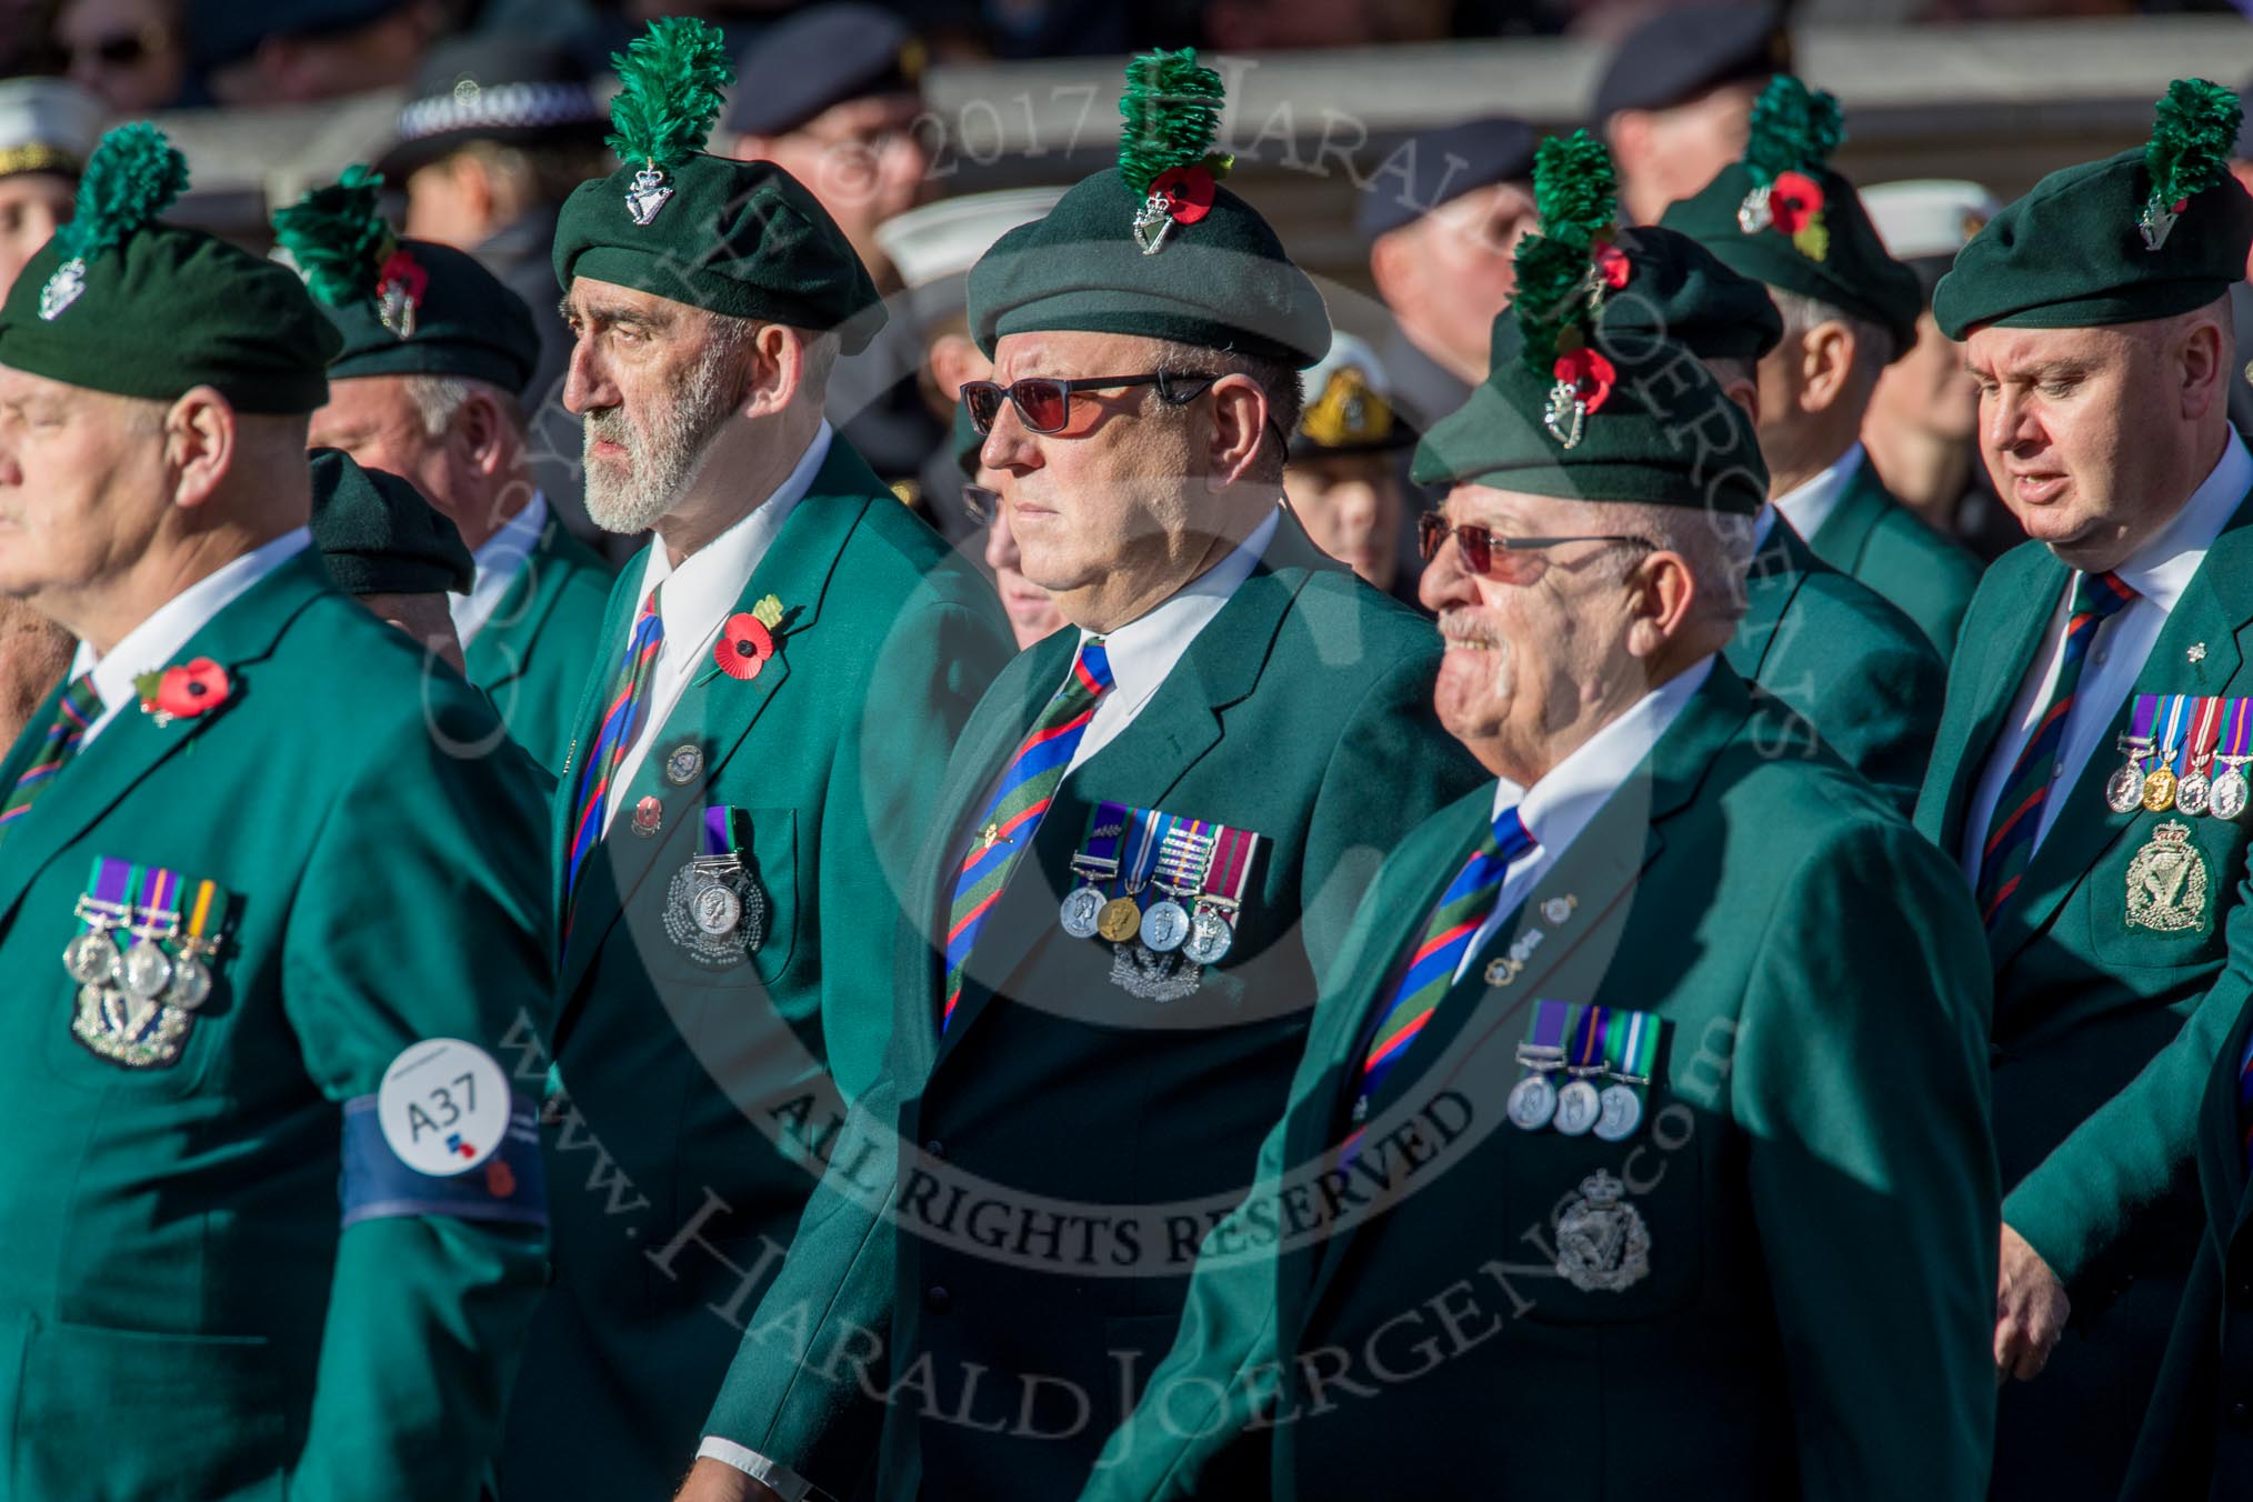
[[[642,734],[626,748],[626,759],[617,763],[617,777],[611,779],[604,799],[602,826],[606,831],[617,817],[617,806],[626,799],[626,788],[633,786],[633,775],[649,757],[649,748],[658,743],[667,716],[680,705],[689,680],[712,660],[719,628],[734,615],[743,585],[750,583],[750,572],[759,567],[759,558],[775,543],[782,522],[791,520],[791,511],[813,489],[813,475],[829,457],[829,437],[831,430],[825,421],[775,493],[734,527],[683,558],[680,567],[674,567],[662,538],[651,540],[649,563],[642,565],[642,588],[633,594],[635,606],[629,622],[640,617],[649,592],[662,583],[665,599],[658,615],[665,619],[665,642],[658,646],[658,660],[649,664],[649,718],[642,721]],[[631,640],[631,624],[626,635]],[[617,660],[611,660],[604,671],[615,676]]]

